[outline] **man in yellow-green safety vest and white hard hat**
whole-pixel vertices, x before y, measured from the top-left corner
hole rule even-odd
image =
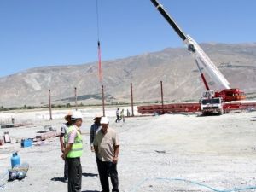
[[[61,155],[68,165],[68,192],[80,192],[82,185],[82,166],[80,157],[83,154],[83,141],[80,131],[83,116],[79,111],[71,116],[72,126],[67,130],[67,147]]]

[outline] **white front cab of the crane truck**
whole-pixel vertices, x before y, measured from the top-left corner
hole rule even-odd
[[[222,115],[224,113],[224,100],[222,97],[215,97],[215,92],[213,90],[203,92],[200,105],[202,115],[210,115],[214,113]]]

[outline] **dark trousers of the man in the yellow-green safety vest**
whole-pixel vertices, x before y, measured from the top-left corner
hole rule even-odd
[[[67,158],[68,192],[80,192],[82,185],[82,166],[80,158]]]

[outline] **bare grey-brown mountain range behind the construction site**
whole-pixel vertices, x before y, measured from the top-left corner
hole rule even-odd
[[[256,98],[256,43],[201,44],[201,47],[232,88],[240,88],[248,98]],[[194,59],[183,48],[103,61],[102,70],[107,102],[129,102],[131,82],[135,102],[159,101],[160,80],[167,102],[198,101],[205,90]],[[207,79],[212,90],[218,90],[216,84]],[[38,67],[3,77],[0,106],[45,105],[49,89],[53,103],[73,102],[74,87],[78,90],[79,103],[101,102],[96,62]]]

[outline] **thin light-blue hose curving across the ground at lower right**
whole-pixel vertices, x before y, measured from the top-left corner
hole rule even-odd
[[[161,181],[167,181],[167,182],[177,181],[177,182],[191,183],[191,184],[200,186],[202,188],[210,189],[210,190],[215,191],[215,192],[236,192],[236,191],[245,191],[245,190],[249,190],[249,189],[255,189],[256,190],[256,186],[247,186],[247,187],[244,187],[244,188],[234,188],[234,189],[224,189],[224,190],[221,190],[221,189],[212,188],[211,186],[208,186],[208,185],[203,184],[203,183],[197,183],[197,182],[190,181],[190,180],[183,179],[183,178],[161,178],[161,177],[155,177],[155,178],[145,178],[142,182],[138,183],[131,190],[131,192],[137,192],[137,190],[143,185],[143,183],[146,183],[149,180],[161,180]]]

